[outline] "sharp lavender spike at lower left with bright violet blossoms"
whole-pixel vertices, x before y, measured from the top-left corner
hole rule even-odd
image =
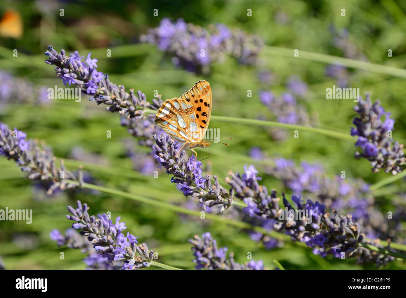
[[[155,251],[148,250],[147,244],[143,243],[139,246],[137,238],[127,232],[127,236],[123,234],[125,223],[120,223],[120,217],[117,217],[114,224],[109,215],[98,214],[97,218],[87,213],[87,204],[78,201],[78,208],[74,209],[68,206],[68,211],[72,215],[67,215],[66,218],[76,221],[72,225],[74,229],[80,230],[79,234],[87,236],[91,241],[96,252],[106,258],[112,264],[113,261],[124,262],[123,270],[133,270],[149,267],[151,260],[154,257]],[[136,253],[140,254],[137,256]]]

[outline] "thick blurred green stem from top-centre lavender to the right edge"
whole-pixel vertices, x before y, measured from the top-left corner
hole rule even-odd
[[[318,54],[299,49],[299,56],[294,57],[294,49],[287,49],[284,47],[265,46],[263,49],[264,54],[272,56],[285,56],[293,59],[305,59],[317,62],[324,62],[328,64],[340,64],[354,69],[361,69],[364,71],[371,71],[373,73],[381,73],[384,75],[391,75],[394,77],[406,78],[406,70],[382,64],[370,63],[355,59],[342,58],[326,54]]]

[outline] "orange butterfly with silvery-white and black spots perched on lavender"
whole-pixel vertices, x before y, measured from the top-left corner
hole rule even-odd
[[[210,145],[203,137],[211,114],[212,89],[208,81],[202,80],[181,97],[166,99],[155,116],[155,124],[174,139],[185,142],[178,152],[186,146],[196,154],[196,161],[193,148]]]

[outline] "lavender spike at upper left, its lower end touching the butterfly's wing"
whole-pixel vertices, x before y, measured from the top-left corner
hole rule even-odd
[[[63,49],[60,53],[58,54],[51,45],[45,52],[48,56],[45,62],[56,66],[56,75],[66,84],[80,86],[84,94],[92,95],[91,101],[95,101],[98,105],[102,103],[107,105],[108,111],[119,112],[123,116],[121,125],[126,126],[132,135],[142,138],[140,144],[152,146],[151,135],[160,134],[162,130],[154,125],[155,115],[145,114],[144,109],[158,110],[162,105],[161,97],[158,96],[158,99],[153,99],[152,103],[149,103],[140,90],[136,94],[133,89],[130,89],[130,93],[125,92],[124,86],[113,84],[108,79],[108,74],[94,68],[97,66],[97,59],[91,59],[90,53],[86,63],[81,61],[84,56],[80,56],[78,51],[71,53],[69,57],[65,56]]]

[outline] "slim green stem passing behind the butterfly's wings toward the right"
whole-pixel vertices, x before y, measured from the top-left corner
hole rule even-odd
[[[156,113],[157,111],[152,109],[144,109],[144,113],[151,114]],[[302,130],[302,131],[310,131],[313,133],[320,133],[322,135],[328,135],[330,137],[336,137],[338,139],[350,139],[353,140],[354,138],[350,135],[350,133],[341,133],[339,131],[330,131],[328,129],[320,129],[311,126],[303,126],[303,125],[296,125],[296,124],[286,124],[274,121],[266,121],[266,120],[257,120],[257,119],[246,119],[246,118],[236,118],[236,117],[227,117],[227,116],[216,116],[212,115],[212,120],[217,121],[224,121],[224,122],[232,122],[232,123],[239,123],[239,124],[251,124],[251,125],[259,125],[259,126],[276,126],[276,127],[283,127],[286,129],[295,129],[295,130]]]

